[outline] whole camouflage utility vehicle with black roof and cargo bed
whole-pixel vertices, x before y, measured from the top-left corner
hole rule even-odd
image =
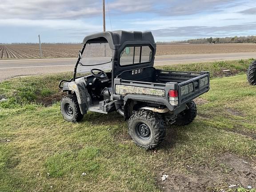
[[[68,121],[86,112],[117,111],[140,147],[155,148],[167,124],[187,125],[196,117],[192,101],[209,90],[209,72],[164,71],[153,67],[156,43],[151,32],[100,32],[86,36],[61,112]],[[92,68],[91,66],[100,66]],[[102,69],[110,69],[104,72]],[[85,75],[91,69],[90,75]],[[93,131],[93,130],[92,130]]]

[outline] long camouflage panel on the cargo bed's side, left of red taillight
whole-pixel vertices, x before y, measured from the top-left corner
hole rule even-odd
[[[116,85],[116,94],[128,95],[129,93],[151,96],[165,96],[165,91],[162,89],[135,87],[129,85]]]

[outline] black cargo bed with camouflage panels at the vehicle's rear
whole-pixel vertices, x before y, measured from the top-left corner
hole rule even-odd
[[[125,79],[126,76],[131,76],[130,73],[134,74],[134,80]],[[138,75],[140,79],[136,78]],[[119,77],[122,78],[114,80],[114,97],[120,99],[120,96],[124,98],[131,94],[161,97],[156,100],[164,98],[169,101],[168,105],[172,105],[172,107],[169,106],[172,110],[208,92],[210,88],[209,72],[177,72],[148,68],[140,73],[139,70],[138,72],[126,71]],[[170,98],[170,90],[177,91],[178,95],[175,99]],[[171,100],[178,102],[171,102]]]

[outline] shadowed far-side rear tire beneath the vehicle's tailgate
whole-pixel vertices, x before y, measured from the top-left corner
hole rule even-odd
[[[181,112],[176,119],[176,125],[188,125],[196,118],[197,109],[194,101],[187,103],[188,108]]]

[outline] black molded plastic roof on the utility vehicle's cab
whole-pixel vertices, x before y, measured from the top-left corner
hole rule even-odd
[[[86,43],[104,43],[108,42],[111,49],[119,49],[126,41],[147,41],[156,47],[154,37],[151,32],[127,32],[127,31],[112,31],[99,32],[84,38],[83,44]],[[145,42],[146,43],[146,42]]]

